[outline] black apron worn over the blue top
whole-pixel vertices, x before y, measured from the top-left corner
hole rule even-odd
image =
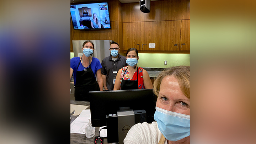
[[[79,64],[78,64],[78,67],[79,67]],[[94,77],[94,73],[91,69],[91,63],[89,65],[89,68],[86,69],[86,71],[84,70],[77,71],[77,70],[78,68],[76,69],[75,100],[90,101],[89,91],[100,91],[98,82],[96,81]]]

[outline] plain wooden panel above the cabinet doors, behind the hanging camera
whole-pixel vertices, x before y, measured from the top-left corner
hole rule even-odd
[[[140,11],[139,0],[122,5],[123,22],[169,21],[190,19],[190,0],[150,1],[150,12]]]

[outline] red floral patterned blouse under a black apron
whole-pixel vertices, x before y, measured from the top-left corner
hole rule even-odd
[[[120,80],[121,80],[121,82],[120,82],[120,90],[121,90],[122,78],[124,80],[137,80],[137,70],[134,72],[132,79],[130,79],[129,72],[128,72],[128,70],[126,70],[127,67],[128,66],[125,66],[125,67],[122,68],[122,72],[121,72],[121,76],[120,76]],[[124,74],[125,70],[126,70],[126,73]],[[142,73],[143,72],[143,68],[140,68],[138,66],[138,71],[139,71],[139,76],[138,76],[138,79],[139,79],[139,81],[138,81],[139,89],[145,89],[145,86],[143,85],[143,73]],[[124,77],[123,77],[123,75],[124,75]]]

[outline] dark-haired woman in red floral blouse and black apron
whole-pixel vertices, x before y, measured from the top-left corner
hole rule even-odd
[[[138,50],[130,48],[126,52],[128,66],[118,70],[114,90],[153,89],[149,74],[143,68],[137,66]]]

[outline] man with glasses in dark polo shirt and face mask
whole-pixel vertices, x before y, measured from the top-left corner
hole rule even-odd
[[[119,44],[117,42],[112,42],[110,44],[110,56],[104,58],[101,62],[101,74],[105,90],[114,89],[114,82],[118,70],[127,66],[126,57],[120,55],[119,52]]]

